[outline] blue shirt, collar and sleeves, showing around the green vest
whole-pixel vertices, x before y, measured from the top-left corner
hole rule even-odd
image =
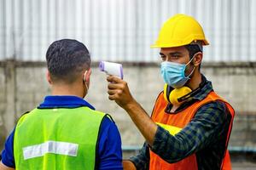
[[[95,108],[76,96],[46,96],[44,102],[38,106],[38,109],[45,108],[77,108],[87,106],[92,110]],[[2,162],[7,167],[15,168],[14,157],[14,134],[15,129],[10,133],[5,142],[2,152]],[[119,130],[115,123],[105,116],[99,130],[99,143],[97,149],[98,169],[123,169],[122,167],[122,150]]]

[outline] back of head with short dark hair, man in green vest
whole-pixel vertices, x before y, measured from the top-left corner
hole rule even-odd
[[[90,68],[90,54],[82,42],[61,39],[50,44],[46,53],[51,82],[72,84]]]

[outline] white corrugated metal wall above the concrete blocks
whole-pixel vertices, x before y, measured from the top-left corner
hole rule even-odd
[[[0,60],[44,61],[50,42],[84,42],[93,60],[157,61],[163,21],[193,15],[208,62],[256,61],[254,0],[0,0]]]

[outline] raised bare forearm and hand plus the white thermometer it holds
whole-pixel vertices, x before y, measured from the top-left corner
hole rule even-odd
[[[122,65],[102,61],[100,63],[100,70],[105,71],[109,75],[107,77],[107,81],[110,82],[108,83],[108,99],[114,100],[129,114],[131,120],[143,133],[148,144],[152,146],[157,125],[150,119],[143,107],[131,96],[127,82],[123,80]]]

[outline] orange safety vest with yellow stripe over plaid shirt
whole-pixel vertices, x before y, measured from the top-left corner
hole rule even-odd
[[[228,136],[226,139],[226,148],[229,143],[230,139],[230,132],[232,128],[232,122],[235,116],[235,111],[233,110],[232,106],[227,103],[224,99],[220,98],[217,94],[213,91],[207,95],[205,99],[201,101],[195,102],[195,104],[190,105],[183,111],[179,111],[177,114],[167,114],[165,112],[166,105],[168,103],[164,99],[163,93],[161,93],[154,105],[154,111],[152,114],[152,120],[159,124],[161,127],[164,127],[166,130],[169,131],[172,135],[178,133],[183,127],[185,127],[195,116],[197,110],[201,108],[202,105],[206,105],[209,102],[221,100],[227,106],[231,114],[231,121]],[[149,162],[149,169],[150,170],[196,170],[197,161],[195,154],[184,158],[181,161],[177,161],[175,163],[168,163],[154,154],[153,151],[150,150],[150,162]],[[231,163],[230,163],[230,154],[228,150],[225,150],[224,159],[222,161],[222,170],[230,170]]]

